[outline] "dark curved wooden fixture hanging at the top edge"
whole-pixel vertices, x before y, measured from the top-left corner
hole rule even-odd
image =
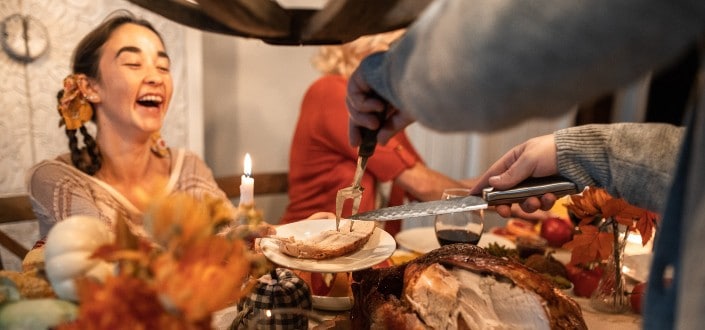
[[[274,45],[321,45],[404,28],[433,0],[330,0],[320,10],[283,8],[272,0],[129,1],[203,31]]]

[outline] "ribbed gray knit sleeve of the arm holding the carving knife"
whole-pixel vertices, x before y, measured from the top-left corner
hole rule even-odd
[[[662,210],[683,138],[668,124],[585,125],[555,132],[558,171],[585,186],[650,210]]]

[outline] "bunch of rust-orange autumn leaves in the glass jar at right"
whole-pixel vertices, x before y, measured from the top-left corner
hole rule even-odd
[[[639,232],[642,245],[649,242],[656,226],[655,213],[613,198],[601,188],[590,187],[582,195],[572,195],[565,206],[580,219],[579,233],[563,245],[572,250],[570,262],[574,265],[607,260],[624,242],[620,242],[619,225],[626,226],[627,232]]]

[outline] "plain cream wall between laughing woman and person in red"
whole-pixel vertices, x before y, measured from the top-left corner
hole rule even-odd
[[[216,177],[242,174],[245,153],[255,173],[288,171],[299,105],[318,77],[315,50],[203,34],[205,160]],[[255,200],[272,223],[287,202],[286,195]]]

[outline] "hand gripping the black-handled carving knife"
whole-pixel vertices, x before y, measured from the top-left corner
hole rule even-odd
[[[498,159],[482,174],[473,187],[473,194],[479,194],[482,189],[492,186],[498,190],[512,188],[530,177],[544,177],[558,174],[556,165],[556,143],[553,134],[527,140],[512,148]],[[525,212],[550,210],[556,202],[554,194],[545,194],[541,198],[530,197],[520,204]],[[516,214],[511,205],[497,205],[497,213],[503,217]]]

